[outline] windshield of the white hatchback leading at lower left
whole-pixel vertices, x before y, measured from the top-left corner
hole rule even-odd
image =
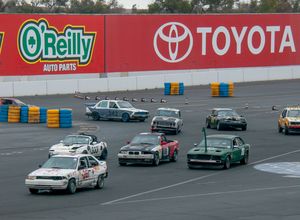
[[[54,169],[76,169],[77,158],[72,157],[51,157],[44,163],[42,168]]]

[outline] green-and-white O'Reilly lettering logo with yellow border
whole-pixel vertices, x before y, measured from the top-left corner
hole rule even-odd
[[[45,19],[27,20],[18,35],[19,53],[23,60],[36,62],[76,61],[87,65],[92,57],[96,33],[86,32],[83,26],[67,25],[63,32]]]

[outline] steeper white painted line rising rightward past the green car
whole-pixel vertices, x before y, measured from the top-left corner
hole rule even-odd
[[[287,152],[287,153],[284,153],[284,154],[279,154],[279,155],[276,155],[276,156],[273,156],[273,157],[268,157],[268,158],[265,158],[265,159],[262,159],[262,160],[258,160],[256,162],[248,164],[248,166],[254,165],[254,164],[257,164],[257,163],[261,163],[261,162],[264,162],[264,161],[267,161],[267,160],[272,160],[274,158],[282,157],[282,156],[285,156],[285,155],[288,155],[288,154],[297,153],[297,152],[300,152],[300,149],[295,150],[295,151],[291,151],[291,152]],[[164,186],[164,187],[148,190],[148,191],[145,191],[145,192],[133,194],[133,195],[130,195],[130,196],[122,197],[122,198],[115,199],[115,200],[112,200],[112,201],[109,201],[109,202],[101,203],[101,205],[111,205],[113,203],[120,203],[120,201],[123,201],[123,200],[126,200],[126,199],[130,199],[130,198],[134,198],[134,197],[137,197],[137,196],[141,196],[141,195],[161,191],[161,190],[164,190],[164,189],[169,189],[169,188],[172,188],[172,187],[184,185],[184,184],[187,184],[187,183],[195,182],[195,181],[202,180],[202,179],[205,179],[205,178],[208,178],[208,177],[211,177],[211,176],[215,176],[217,174],[221,174],[221,172],[209,174],[209,175],[206,175],[206,176],[200,176],[200,177],[189,179],[189,180],[186,180],[186,181],[183,181],[183,182],[175,183],[175,184],[172,184],[172,185],[169,185],[169,186]]]

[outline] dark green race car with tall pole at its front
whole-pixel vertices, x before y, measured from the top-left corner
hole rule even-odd
[[[229,169],[232,163],[247,164],[250,145],[237,135],[209,135],[187,153],[190,169],[203,166],[218,166]]]

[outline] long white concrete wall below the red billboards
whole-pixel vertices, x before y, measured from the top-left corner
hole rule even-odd
[[[109,73],[107,78],[99,78],[99,76],[103,75],[90,74],[88,78],[87,75],[74,75],[72,79],[57,79],[56,76],[44,76],[38,79],[1,77],[0,96],[144,90],[163,88],[164,82],[183,82],[185,86],[195,86],[208,85],[211,82],[298,79],[300,66],[122,72]]]

